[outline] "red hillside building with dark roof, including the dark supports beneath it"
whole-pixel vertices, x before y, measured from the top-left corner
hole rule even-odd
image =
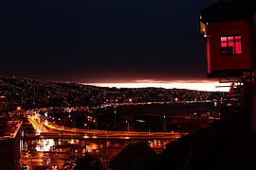
[[[237,83],[237,124],[256,131],[256,1],[219,0],[202,9],[200,33],[207,43],[208,76],[227,77],[232,86]],[[238,80],[229,80],[231,76]]]

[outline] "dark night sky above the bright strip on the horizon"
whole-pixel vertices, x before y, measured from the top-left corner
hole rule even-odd
[[[77,82],[206,79],[199,11],[216,0],[8,0],[1,76]]]

